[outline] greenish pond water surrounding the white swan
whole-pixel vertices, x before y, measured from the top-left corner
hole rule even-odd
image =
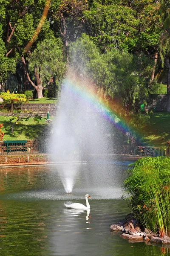
[[[100,175],[106,166],[108,180]],[[98,177],[87,179],[89,169]],[[59,166],[1,168],[0,255],[168,255],[165,248],[132,244],[110,232],[111,224],[129,212],[120,199],[125,169],[125,163],[82,164],[72,195],[65,195]],[[85,204],[86,193],[92,198],[90,212],[64,207],[68,201]]]

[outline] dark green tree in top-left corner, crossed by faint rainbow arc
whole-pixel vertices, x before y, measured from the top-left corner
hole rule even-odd
[[[58,2],[60,1],[52,1],[53,8],[59,6]],[[32,43],[34,39],[37,39],[38,35],[37,41],[42,41],[53,34],[50,29],[50,21],[45,19],[49,3],[50,0],[0,0],[0,38],[5,44],[3,55],[6,56],[6,61],[15,60],[14,64],[20,66],[18,65],[18,62],[21,61],[19,51],[26,58],[25,47],[30,45],[30,42]],[[37,41],[34,43],[31,52],[36,48]],[[5,62],[2,61],[2,63]],[[28,83],[24,64],[22,68],[26,89]]]

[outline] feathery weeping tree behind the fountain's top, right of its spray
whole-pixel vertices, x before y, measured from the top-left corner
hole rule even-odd
[[[85,34],[71,47],[71,66],[75,73],[94,81],[105,95],[119,99],[127,110],[135,106],[136,100],[147,98],[151,65],[152,59],[146,56],[118,49],[102,54]]]

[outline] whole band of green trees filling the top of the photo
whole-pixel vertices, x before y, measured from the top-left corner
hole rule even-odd
[[[81,63],[97,87],[121,95],[126,106],[146,99],[167,71],[169,95],[169,9],[169,0],[0,0],[0,82],[13,73],[42,97],[65,64]]]

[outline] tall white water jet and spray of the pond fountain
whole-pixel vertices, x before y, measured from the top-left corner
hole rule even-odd
[[[105,120],[93,91],[93,84],[81,76],[73,76],[72,71],[62,84],[50,153],[54,162],[65,163],[57,169],[65,192],[69,194],[79,172],[79,163],[103,159],[111,145],[111,140],[109,142],[106,137],[111,133],[111,125]],[[107,182],[106,169],[100,174],[93,170],[88,174],[91,175],[98,184]]]

